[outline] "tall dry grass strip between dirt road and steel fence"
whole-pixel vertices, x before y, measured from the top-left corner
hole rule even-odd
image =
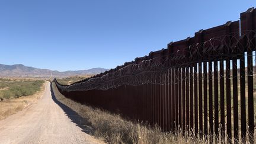
[[[84,119],[87,130],[107,143],[207,143],[193,136],[185,138],[181,133],[163,133],[158,126],[153,129],[140,123],[122,119],[98,108],[76,103],[57,91],[52,83],[56,99],[76,111]]]

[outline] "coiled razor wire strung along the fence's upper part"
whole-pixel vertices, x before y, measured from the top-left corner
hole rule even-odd
[[[185,49],[177,50],[167,56],[158,56],[152,59],[145,56],[145,59],[139,63],[133,62],[127,66],[121,66],[116,71],[109,71],[102,76],[84,79],[71,85],[57,85],[65,91],[107,90],[121,85],[172,85],[186,79],[187,75],[184,75],[183,72],[187,72],[188,68],[189,72],[192,71],[197,75],[199,70],[203,71],[203,66],[200,65],[207,63],[207,73],[212,73],[213,69],[219,71],[220,67],[219,65],[218,68],[212,66],[212,69],[209,69],[209,63],[225,62],[226,60],[239,60],[236,64],[238,69],[239,63],[244,62],[245,69],[243,70],[246,71],[246,57],[249,56],[247,52],[255,50],[255,39],[251,39],[250,35],[255,38],[255,32],[253,30],[242,34],[231,33],[222,37],[213,37],[203,43],[191,44]],[[255,52],[252,53],[252,57],[255,63]],[[223,66],[225,67],[225,65]],[[201,68],[199,69],[199,67]],[[226,68],[224,69],[226,70]],[[182,78],[177,78],[177,76],[182,76]]]

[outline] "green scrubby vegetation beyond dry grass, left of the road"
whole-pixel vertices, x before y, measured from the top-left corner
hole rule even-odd
[[[33,95],[40,91],[43,80],[34,79],[0,79],[0,98],[18,98]]]

